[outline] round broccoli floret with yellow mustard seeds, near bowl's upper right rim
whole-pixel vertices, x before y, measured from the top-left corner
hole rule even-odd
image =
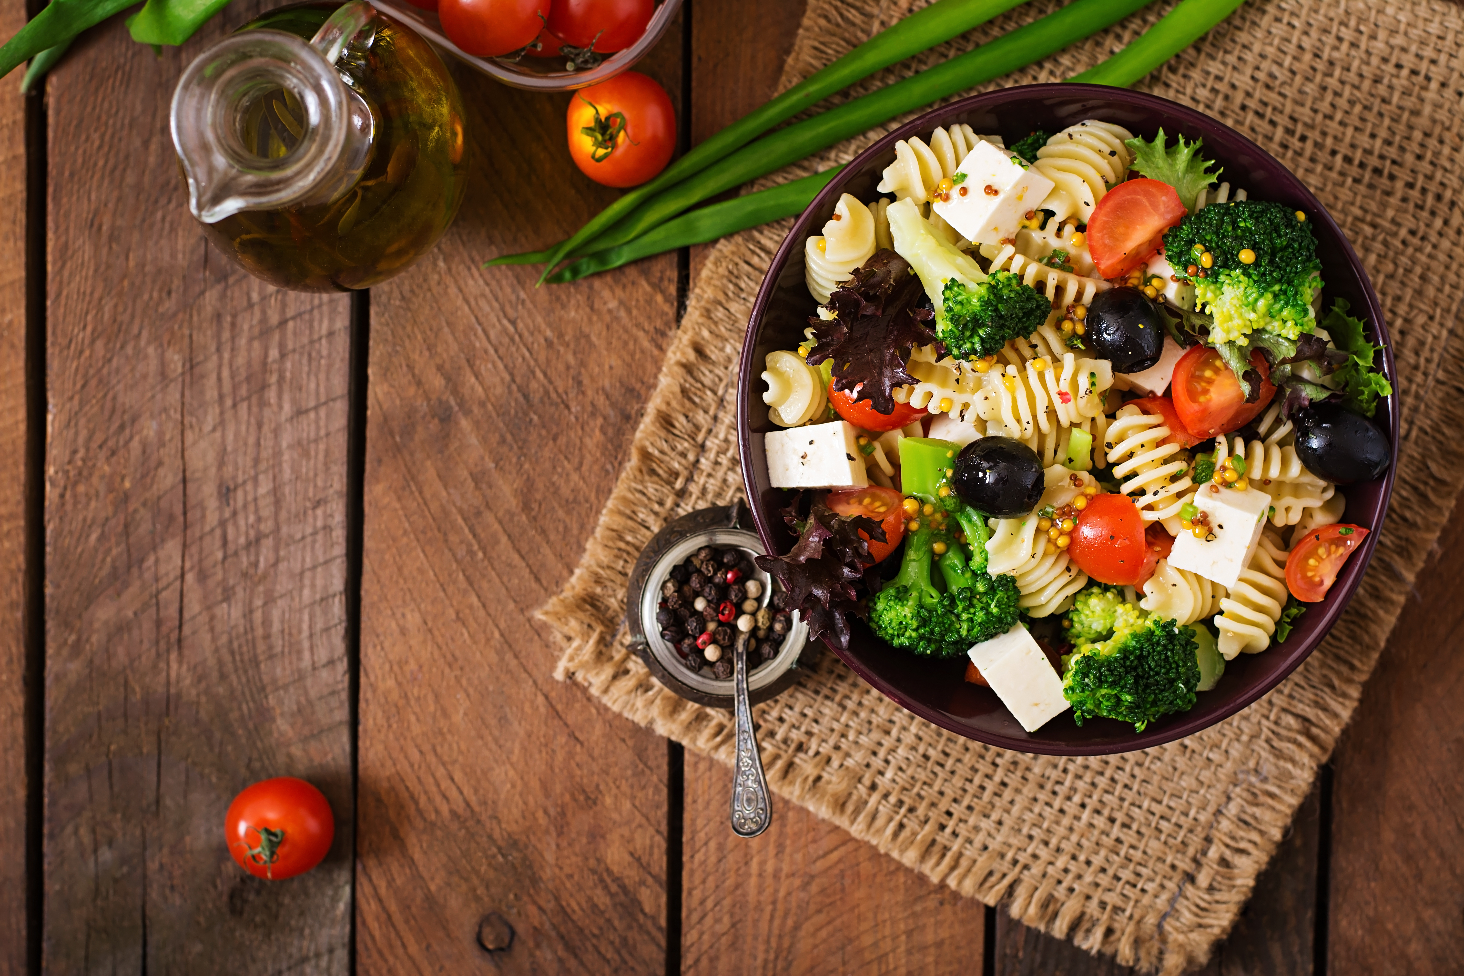
[[[1203,268],[1200,250],[1212,266]],[[1243,252],[1253,260],[1240,259]],[[1241,342],[1250,332],[1294,339],[1316,328],[1312,300],[1322,288],[1316,237],[1297,211],[1265,200],[1214,203],[1164,236],[1176,274],[1195,285],[1196,307],[1214,316],[1209,341]],[[1186,275],[1186,268],[1196,274]],[[1200,277],[1203,272],[1203,278]]]

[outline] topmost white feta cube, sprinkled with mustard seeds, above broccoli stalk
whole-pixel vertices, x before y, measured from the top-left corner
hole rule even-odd
[[[965,180],[949,200],[935,200],[933,209],[966,240],[997,244],[1016,239],[1022,217],[1037,208],[1051,192],[1053,181],[1006,149],[978,142],[956,167]],[[962,196],[960,190],[966,195]]]

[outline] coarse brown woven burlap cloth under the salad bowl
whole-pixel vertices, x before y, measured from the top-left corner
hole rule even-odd
[[[782,85],[921,4],[810,0]],[[1057,6],[1017,7],[859,91]],[[1168,6],[998,85],[1070,78]],[[1372,568],[1326,642],[1230,720],[1101,758],[968,742],[896,707],[826,653],[757,708],[779,796],[963,896],[1003,903],[1013,917],[1121,963],[1176,973],[1209,957],[1353,714],[1438,536],[1439,506],[1452,503],[1464,474],[1452,262],[1464,240],[1461,26],[1461,9],[1439,0],[1252,0],[1140,83],[1224,120],[1297,173],[1348,234],[1382,296],[1404,404],[1398,483]],[[848,161],[908,119],[772,181]],[[665,521],[742,490],[736,357],[752,297],[789,225],[747,231],[713,250],[584,559],[542,612],[567,644],[559,676],[723,762],[732,755],[729,716],[665,691],[628,650],[625,577]]]

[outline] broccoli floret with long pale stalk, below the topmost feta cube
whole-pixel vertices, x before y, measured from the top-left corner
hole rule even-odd
[[[935,335],[952,356],[991,356],[1007,339],[1032,335],[1047,322],[1053,303],[1042,293],[1009,271],[987,278],[975,260],[931,231],[912,200],[896,200],[886,214],[895,250],[925,285],[935,307]]]

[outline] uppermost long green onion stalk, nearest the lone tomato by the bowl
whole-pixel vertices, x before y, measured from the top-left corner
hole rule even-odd
[[[666,167],[654,180],[625,193],[600,211],[568,240],[555,244],[549,250],[495,258],[485,266],[546,263],[548,268],[543,277],[548,278],[549,271],[571,250],[593,239],[619,219],[622,214],[632,211],[641,200],[698,173],[716,159],[747,145],[777,123],[792,119],[829,95],[843,91],[849,85],[896,61],[903,61],[906,57],[919,54],[959,34],[965,34],[1020,3],[1025,3],[1025,0],[937,0],[937,3],[930,4],[924,10],[916,10],[899,23],[874,35],[829,67],[810,75],[798,85],[793,85],[761,108],[748,113],[706,142],[698,143],[687,155]]]

